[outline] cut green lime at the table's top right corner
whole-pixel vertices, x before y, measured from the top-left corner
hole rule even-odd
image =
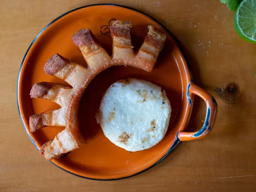
[[[256,43],[256,0],[244,0],[236,10],[234,27],[239,36]]]

